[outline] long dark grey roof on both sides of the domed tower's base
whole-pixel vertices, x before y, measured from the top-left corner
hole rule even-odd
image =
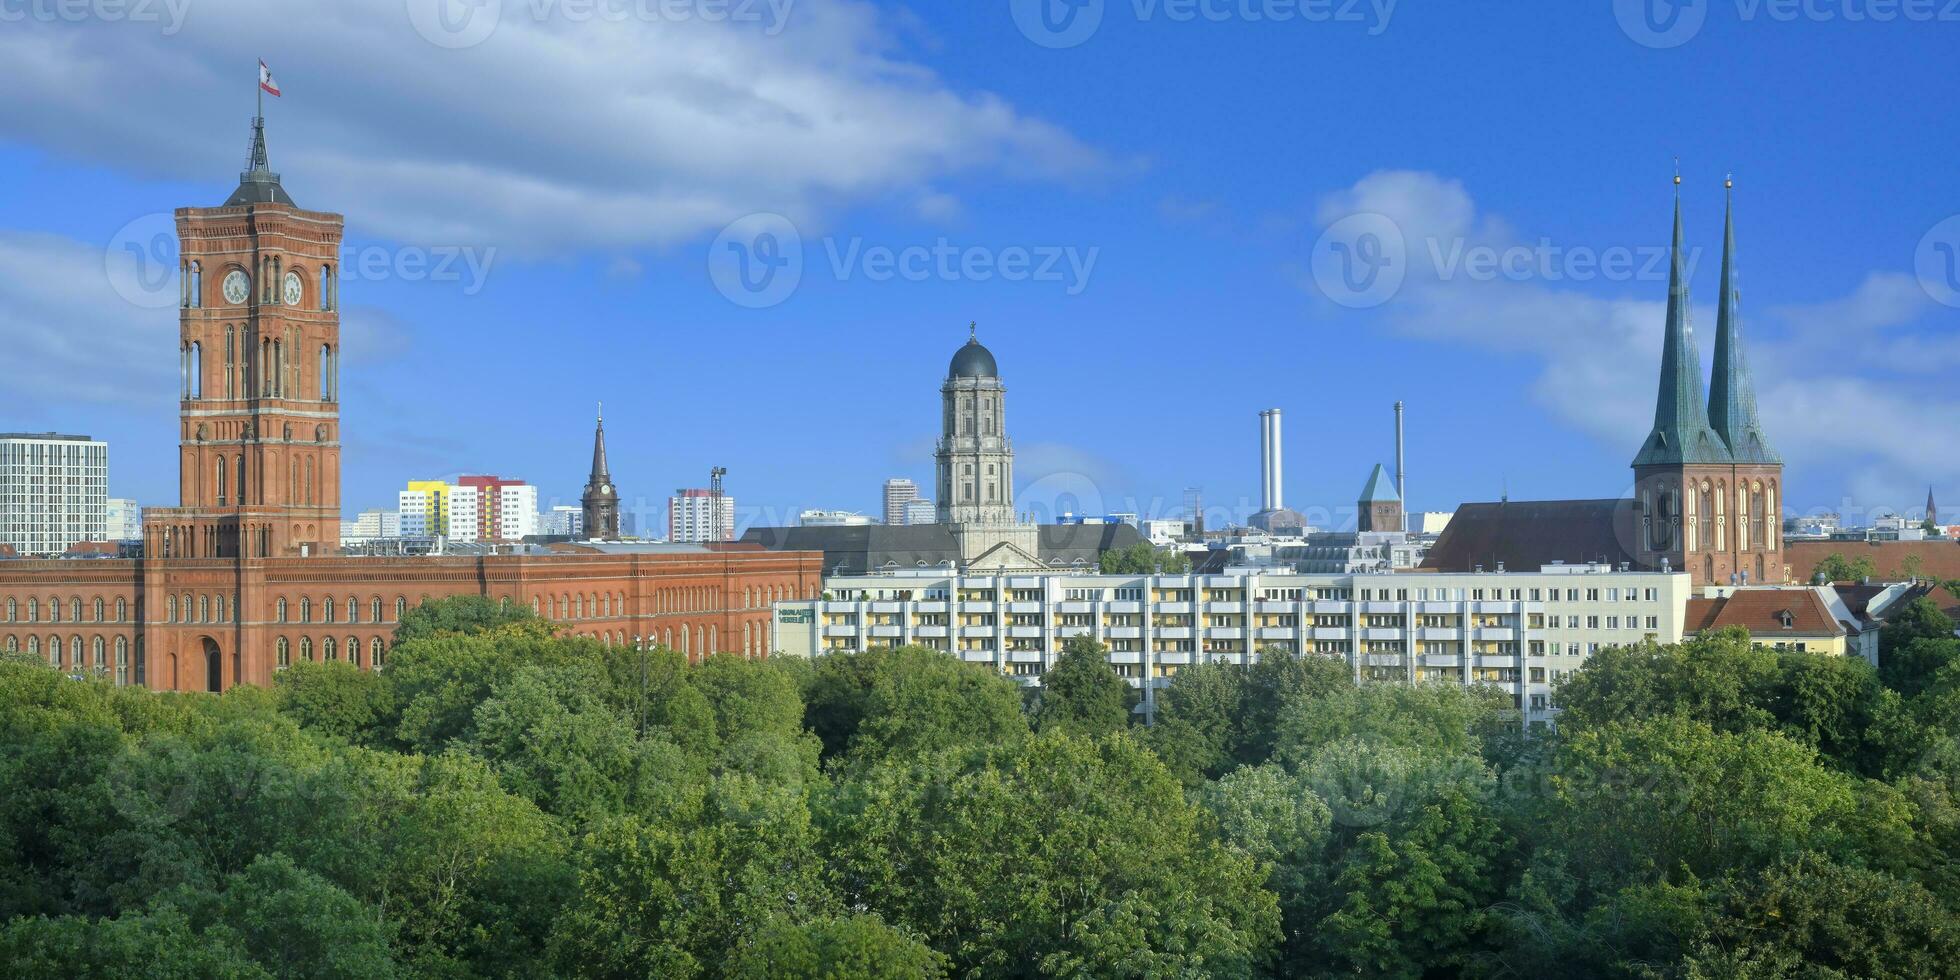
[[[1094,564],[1103,551],[1127,549],[1143,535],[1127,523],[1045,523],[1035,537],[1041,564]],[[823,574],[866,574],[884,568],[931,568],[960,563],[951,523],[860,523],[847,527],[751,527],[745,545],[768,551],[821,551]]]

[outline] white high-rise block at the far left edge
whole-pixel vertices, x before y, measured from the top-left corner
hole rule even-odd
[[[0,545],[18,555],[61,555],[76,541],[108,541],[108,443],[0,433]]]

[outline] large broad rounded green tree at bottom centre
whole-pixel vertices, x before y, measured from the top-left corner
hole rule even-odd
[[[1239,976],[1278,937],[1260,868],[1207,841],[1127,735],[1041,733],[855,770],[823,827],[843,902],[958,974]]]

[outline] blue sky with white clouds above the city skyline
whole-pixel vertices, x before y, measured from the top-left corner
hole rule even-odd
[[[1617,496],[1674,157],[1703,357],[1737,176],[1788,506],[1935,484],[1960,508],[1940,6],[1701,0],[1650,33],[1629,2],[1105,0],[1054,8],[1074,35],[1019,0],[10,6],[0,429],[104,437],[114,494],[174,502],[174,312],[151,302],[174,286],[127,245],[229,192],[263,57],[272,165],[355,249],[347,512],[459,472],[572,502],[598,400],[649,515],[713,465],[745,521],[872,512],[886,476],[929,484],[968,321],[1037,514],[1201,486],[1243,515],[1278,406],[1286,502],[1350,521],[1397,398],[1415,508]],[[733,265],[764,231],[800,245],[794,288]],[[1382,231],[1390,278],[1354,292],[1341,263]]]

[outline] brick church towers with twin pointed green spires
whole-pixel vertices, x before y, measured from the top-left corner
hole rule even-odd
[[[1762,431],[1742,351],[1735,206],[1731,200],[1723,221],[1715,374],[1703,408],[1701,353],[1682,269],[1678,184],[1680,178],[1654,427],[1633,459],[1635,557],[1642,566],[1686,570],[1697,586],[1782,584],[1789,580],[1780,517],[1784,461]]]

